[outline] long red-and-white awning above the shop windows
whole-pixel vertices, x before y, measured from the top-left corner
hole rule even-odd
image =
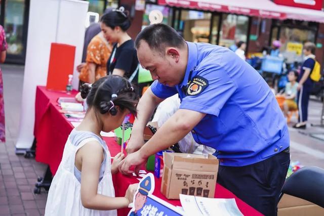
[[[219,11],[270,19],[296,19],[324,23],[324,12],[276,5],[270,0],[158,0],[159,5]]]

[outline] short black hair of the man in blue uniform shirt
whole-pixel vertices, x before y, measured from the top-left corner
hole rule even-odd
[[[138,49],[141,40],[147,42],[150,49],[164,53],[168,46],[184,48],[185,40],[172,27],[166,24],[152,24],[144,28],[135,39],[135,48]]]

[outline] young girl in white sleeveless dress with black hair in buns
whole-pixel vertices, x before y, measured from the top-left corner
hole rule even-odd
[[[118,171],[124,155],[117,154],[111,164],[100,132],[110,132],[121,125],[126,115],[136,114],[134,89],[127,79],[109,75],[92,84],[91,89],[84,84],[82,97],[87,97],[89,108],[66,141],[45,215],[117,215],[115,209],[133,201],[137,184],[129,186],[125,197],[114,197],[111,175]]]

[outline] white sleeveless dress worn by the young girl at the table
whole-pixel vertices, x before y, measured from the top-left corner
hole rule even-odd
[[[86,143],[90,141],[97,141],[96,138],[87,138],[81,141],[77,146],[71,144],[68,138],[64,147],[62,161],[58,167],[58,170],[53,178],[51,187],[49,190],[45,216],[115,216],[117,210],[94,210],[85,208],[81,202],[81,184],[74,176],[74,161],[75,153]],[[101,143],[104,143],[101,142]],[[102,194],[109,197],[115,197],[115,191],[113,188],[111,178],[111,156],[107,146],[103,146],[106,155],[106,164],[104,176],[98,183],[98,194]]]

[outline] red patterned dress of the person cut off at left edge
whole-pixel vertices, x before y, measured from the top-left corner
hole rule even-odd
[[[8,44],[4,28],[0,25],[0,63],[6,60],[6,50]],[[6,142],[6,126],[5,126],[5,103],[4,103],[4,83],[2,79],[2,71],[0,68],[0,142]]]

